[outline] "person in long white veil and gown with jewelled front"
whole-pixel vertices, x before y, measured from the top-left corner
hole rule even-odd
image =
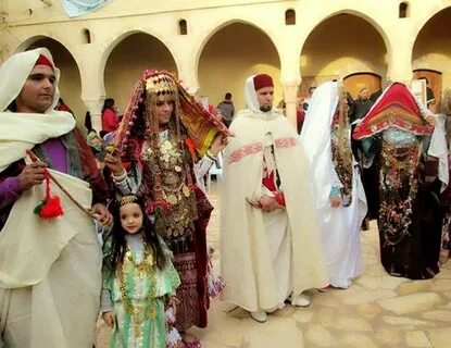
[[[327,82],[316,88],[300,138],[310,166],[329,284],[348,288],[362,272],[360,229],[366,214],[366,198],[351,151],[344,94],[341,94],[340,102],[339,108],[337,82]],[[334,159],[333,141],[343,158]],[[337,174],[340,170],[347,171],[343,175],[349,174],[348,183],[340,181]],[[347,185],[349,187],[344,189]]]

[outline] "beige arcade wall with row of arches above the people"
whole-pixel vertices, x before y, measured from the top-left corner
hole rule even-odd
[[[240,85],[245,78],[250,73],[267,70],[276,77],[276,85],[283,86],[289,103],[289,116],[295,120],[297,84],[302,76],[325,77],[341,75],[342,72],[371,71],[387,79],[409,82],[413,67],[429,67],[442,71],[443,87],[450,86],[451,52],[443,49],[451,47],[450,35],[446,34],[450,22],[446,13],[449,10],[439,14],[431,24],[428,21],[450,8],[451,0],[410,0],[406,18],[398,17],[400,2],[127,0],[112,1],[95,13],[70,20],[59,1],[48,7],[40,1],[3,0],[8,30],[2,29],[0,33],[0,53],[5,58],[24,50],[39,36],[58,40],[77,63],[82,99],[98,116],[105,95],[128,95],[131,80],[136,80],[138,71],[147,65],[143,55],[152,55],[153,44],[141,48],[130,41],[124,44],[128,45],[128,49],[118,46],[118,51],[114,50],[113,55],[110,55],[130,34],[142,32],[164,44],[174,59],[173,62],[165,58],[165,53],[162,53],[165,50],[159,48],[156,51],[162,54],[158,53],[158,58],[152,55],[154,60],[150,64],[158,65],[164,61],[170,70],[175,70],[176,65],[186,86],[191,90],[201,88],[201,92],[210,95],[214,103],[222,99],[224,91],[230,89],[241,104]],[[296,11],[296,25],[285,25],[287,9]],[[188,21],[186,36],[178,35],[177,23],[180,18]],[[251,29],[246,29],[235,32],[236,38],[233,38],[227,32],[233,32],[235,25],[231,29],[227,29],[227,25],[234,23],[254,25],[267,37],[260,34],[259,29],[255,30],[260,35],[255,36]],[[422,30],[425,25],[426,29]],[[91,44],[83,42],[84,28],[91,30]],[[221,28],[225,28],[225,32],[222,34],[220,30],[214,35]],[[236,47],[221,57],[215,52],[243,36],[249,47],[254,44],[255,37],[268,41],[267,46],[259,44],[265,46],[267,51],[251,55],[241,52],[248,47]],[[145,54],[141,54],[142,50]],[[133,64],[129,64],[130,60]],[[234,74],[231,78],[230,74]],[[77,90],[77,86],[74,82],[74,87],[66,88],[66,92]],[[280,90],[277,94],[276,99],[281,97]],[[116,96],[121,108],[125,104],[123,98]]]

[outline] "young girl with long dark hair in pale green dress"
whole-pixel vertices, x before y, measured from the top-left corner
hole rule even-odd
[[[142,207],[136,196],[114,203],[114,226],[103,247],[101,309],[113,327],[111,348],[165,348],[165,306],[176,307],[180,279]]]

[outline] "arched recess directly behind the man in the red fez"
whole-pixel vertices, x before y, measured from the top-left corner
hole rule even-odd
[[[277,103],[283,98],[283,90],[280,60],[273,41],[252,25],[229,24],[217,30],[201,52],[198,65],[200,94],[216,105],[229,91],[235,109],[242,109],[245,82],[250,75],[260,73],[273,76]]]

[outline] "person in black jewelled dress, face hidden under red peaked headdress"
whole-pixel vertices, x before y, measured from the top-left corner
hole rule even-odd
[[[433,133],[428,111],[402,84],[389,86],[355,129],[354,139],[374,146],[378,170],[378,229],[380,261],[391,275],[411,279],[434,277],[438,272],[443,211],[440,189],[448,172],[439,161],[446,146],[440,124]],[[435,157],[436,159],[434,159]]]

